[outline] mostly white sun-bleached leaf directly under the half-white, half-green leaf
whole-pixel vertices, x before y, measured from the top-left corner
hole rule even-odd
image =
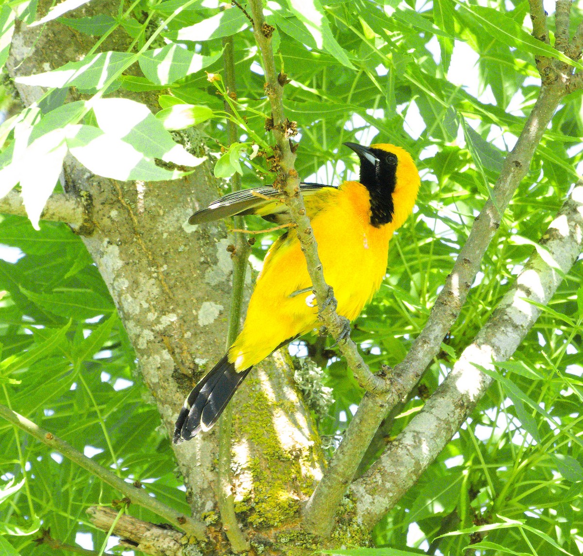
[[[166,130],[164,130],[166,132]],[[98,176],[114,180],[175,180],[184,172],[156,166],[132,145],[90,125],[69,125],[67,146],[83,166]]]

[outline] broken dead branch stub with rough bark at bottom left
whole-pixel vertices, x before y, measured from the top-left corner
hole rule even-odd
[[[108,506],[91,506],[87,508],[87,513],[94,526],[102,531],[109,531],[118,515]],[[186,544],[184,533],[128,515],[120,516],[113,532],[120,537],[122,546],[152,556],[179,556]]]

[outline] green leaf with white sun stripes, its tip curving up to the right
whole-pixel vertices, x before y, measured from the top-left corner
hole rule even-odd
[[[143,74],[156,85],[167,85],[195,74],[219,60],[223,51],[203,56],[182,48],[178,44],[167,44],[156,50],[146,50],[139,58]]]

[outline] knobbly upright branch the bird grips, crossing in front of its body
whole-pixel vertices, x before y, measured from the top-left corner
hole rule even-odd
[[[345,357],[359,384],[367,391],[386,391],[389,386],[387,382],[382,377],[375,376],[370,372],[360,356],[356,344],[350,337],[343,337],[348,323],[344,317],[336,313],[336,300],[333,297],[332,288],[326,284],[324,279],[314,231],[310,225],[310,219],[305,213],[304,200],[300,193],[300,178],[294,169],[296,155],[291,151],[289,142],[292,130],[283,113],[283,86],[280,85],[280,81],[285,83],[285,78],[278,79],[278,72],[273,60],[271,44],[273,27],[265,22],[262,0],[250,0],[250,6],[253,14],[255,40],[259,50],[261,50],[267,81],[265,92],[269,97],[272,109],[273,134],[279,156],[277,183],[285,194],[285,204],[290,210],[291,220],[297,224],[297,236],[307,262],[308,274],[310,274],[312,281],[312,292],[318,303],[318,318],[326,326],[334,340],[338,342],[340,352]]]

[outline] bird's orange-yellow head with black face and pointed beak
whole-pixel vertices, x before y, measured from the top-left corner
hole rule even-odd
[[[419,172],[405,149],[389,143],[345,143],[359,155],[360,183],[370,193],[373,226],[398,228],[409,216],[419,191]]]

